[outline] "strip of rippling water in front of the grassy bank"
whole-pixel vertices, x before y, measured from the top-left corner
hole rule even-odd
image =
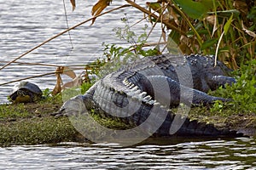
[[[0,149],[0,167],[10,169],[255,169],[256,139],[147,141],[118,144],[57,144]],[[190,139],[191,140],[191,139]],[[164,144],[163,144],[164,142]]]

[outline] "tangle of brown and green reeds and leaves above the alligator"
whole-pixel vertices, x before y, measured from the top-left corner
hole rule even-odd
[[[111,2],[99,0],[92,14],[97,17]],[[125,2],[148,14],[153,27],[161,25],[162,39],[171,53],[178,49],[182,54],[215,54],[233,69],[255,59],[254,1],[161,0],[146,3],[148,8]]]

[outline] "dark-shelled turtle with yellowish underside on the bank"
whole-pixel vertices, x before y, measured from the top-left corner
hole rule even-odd
[[[32,82],[20,82],[13,88],[9,100],[13,103],[31,103],[42,99],[43,92]]]

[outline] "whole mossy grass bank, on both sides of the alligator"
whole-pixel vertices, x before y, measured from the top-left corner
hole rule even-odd
[[[0,145],[50,144],[67,141],[84,141],[67,117],[55,119],[50,113],[58,111],[60,98],[52,98],[36,104],[0,105]],[[207,107],[195,107],[189,112],[191,119],[213,123],[217,127],[243,129],[252,133],[256,129],[256,115],[251,112],[234,114],[230,109],[211,111]],[[122,122],[94,116],[104,127],[122,129]],[[86,125],[85,125],[86,126]],[[93,133],[96,129],[90,128]]]

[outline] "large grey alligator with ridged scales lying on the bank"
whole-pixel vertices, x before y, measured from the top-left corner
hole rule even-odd
[[[227,77],[231,70],[223,63],[218,61],[213,65],[212,57],[199,54],[161,54],[138,59],[103,77],[84,95],[67,100],[53,115],[77,114],[74,105],[82,101],[86,111],[93,110],[132,127],[143,125],[145,133],[156,136],[241,136],[236,131],[190,121],[171,111],[180,103],[209,105],[216,100],[230,100],[206,94],[210,89],[236,82],[233,77]]]

